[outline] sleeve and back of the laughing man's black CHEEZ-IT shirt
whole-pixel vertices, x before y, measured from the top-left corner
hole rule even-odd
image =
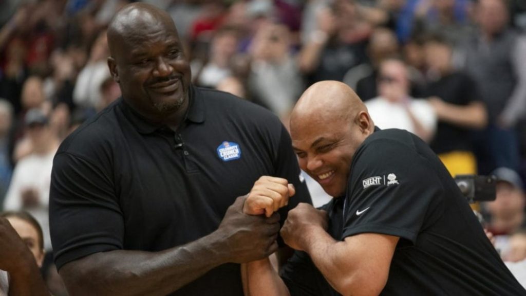
[[[376,131],[353,156],[342,240],[399,236],[382,295],[524,295],[438,157],[417,136]]]

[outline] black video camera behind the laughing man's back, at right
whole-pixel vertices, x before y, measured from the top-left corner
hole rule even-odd
[[[469,203],[494,201],[497,197],[495,176],[456,175],[454,180]]]

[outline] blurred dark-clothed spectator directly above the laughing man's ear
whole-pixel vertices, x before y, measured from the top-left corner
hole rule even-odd
[[[367,55],[370,63],[351,68],[343,78],[343,82],[355,89],[364,102],[378,96],[376,81],[380,63],[386,58],[399,55],[395,34],[387,28],[376,28],[369,38]]]

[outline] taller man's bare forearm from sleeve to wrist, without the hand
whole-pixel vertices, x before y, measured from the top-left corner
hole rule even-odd
[[[230,258],[217,232],[161,252],[117,250],[89,255],[60,269],[75,295],[166,295]]]

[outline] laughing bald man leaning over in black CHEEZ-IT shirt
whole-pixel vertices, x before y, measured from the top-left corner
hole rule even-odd
[[[375,127],[347,85],[309,87],[290,131],[301,169],[337,197],[289,212],[281,235],[297,251],[282,281],[248,263],[250,296],[526,295],[429,146]]]

